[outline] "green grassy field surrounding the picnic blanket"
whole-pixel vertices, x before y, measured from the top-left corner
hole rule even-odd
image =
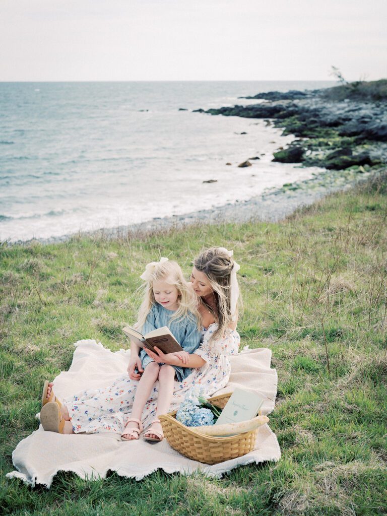
[[[0,247],[0,507],[5,514],[360,515],[386,513],[386,178],[332,195],[286,221],[201,225],[107,240]],[[37,428],[44,378],[73,342],[126,345],[144,265],[189,273],[212,245],[241,264],[243,345],[269,347],[279,386],[269,416],[278,463],[221,480],[157,471],[136,482],[61,473],[51,490],[8,480],[11,453]]]

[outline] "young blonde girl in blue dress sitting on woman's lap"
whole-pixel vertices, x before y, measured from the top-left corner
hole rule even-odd
[[[196,310],[197,300],[186,284],[183,272],[176,262],[162,258],[160,262],[147,265],[141,275],[146,281],[145,296],[141,304],[137,327],[146,334],[157,328],[168,326],[173,336],[184,351],[169,353],[186,363],[189,354],[193,353],[200,344],[199,317]],[[138,355],[138,346],[132,342],[131,353]],[[174,380],[182,382],[189,376],[192,369],[178,365],[168,365],[155,362],[147,351],[140,352],[142,376],[138,383],[133,402],[131,417],[126,422],[125,431],[121,438],[124,440],[138,439],[142,431],[141,414],[151,394],[153,385],[158,379],[158,398],[156,419],[144,433],[148,441],[163,439],[162,427],[157,415],[166,414],[172,401]]]

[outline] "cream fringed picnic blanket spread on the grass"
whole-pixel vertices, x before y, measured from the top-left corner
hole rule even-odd
[[[92,340],[74,344],[73,362],[67,372],[55,378],[55,393],[66,398],[82,389],[109,385],[126,371],[130,351],[115,353]],[[245,350],[231,357],[231,376],[228,385],[219,391],[231,392],[236,387],[257,391],[266,398],[263,414],[274,408],[277,393],[277,372],[270,368],[271,351],[267,348]],[[18,471],[7,477],[18,477],[35,486],[50,488],[58,471],[72,471],[81,478],[104,478],[109,471],[120,476],[142,479],[163,469],[166,473],[190,474],[203,472],[220,478],[234,467],[279,460],[280,447],[268,425],[260,428],[256,447],[249,454],[236,459],[208,465],[187,459],[171,448],[166,439],[153,444],[142,440],[130,443],[118,440],[110,433],[78,434],[64,436],[38,430],[23,439],[12,454],[13,465]]]

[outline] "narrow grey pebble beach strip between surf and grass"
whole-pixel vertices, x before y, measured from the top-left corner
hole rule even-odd
[[[43,244],[53,244],[69,240],[74,236],[91,236],[103,238],[122,238],[136,234],[164,231],[168,228],[183,228],[188,224],[220,224],[223,222],[247,222],[261,220],[278,222],[292,214],[301,206],[308,206],[322,197],[338,190],[348,189],[360,181],[369,178],[375,172],[356,173],[353,171],[324,171],[313,179],[284,185],[279,189],[270,189],[262,195],[248,201],[229,203],[224,206],[203,209],[172,217],[154,218],[132,225],[120,225],[116,228],[101,228],[88,232],[45,239],[17,241],[10,245],[29,244],[39,241]]]

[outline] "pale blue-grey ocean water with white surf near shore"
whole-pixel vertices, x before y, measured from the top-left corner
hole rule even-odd
[[[308,179],[263,120],[193,113],[331,82],[0,83],[0,240],[181,215]],[[185,108],[186,111],[180,111]],[[247,134],[240,134],[247,133]],[[253,166],[238,168],[259,156]],[[232,163],[232,165],[226,165]],[[203,181],[214,180],[213,183]]]

